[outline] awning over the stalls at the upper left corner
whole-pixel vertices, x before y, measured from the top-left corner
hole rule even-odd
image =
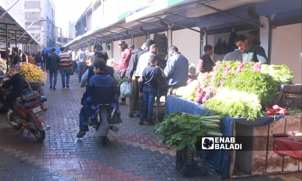
[[[0,1],[0,15],[2,15],[6,11],[6,5]],[[8,42],[10,45],[16,43],[17,40],[21,37],[21,35],[26,31],[26,28],[23,24],[9,11],[0,19],[0,44],[6,44],[6,26],[8,29]],[[17,42],[27,44],[33,36],[30,33],[25,33],[24,36]],[[31,41],[30,44],[38,44],[35,39]]]

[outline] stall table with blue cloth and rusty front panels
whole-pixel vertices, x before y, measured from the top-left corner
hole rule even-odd
[[[209,114],[205,107],[198,103],[180,97],[168,96],[165,114],[173,111],[201,116]],[[251,151],[207,151],[206,164],[219,170],[223,179],[299,172],[302,168],[301,161],[289,158],[284,162],[281,156],[274,153],[272,135],[297,131],[296,129],[301,131],[301,122],[301,115],[259,117],[253,121],[224,116],[220,125],[223,136],[249,136],[248,144],[251,145]],[[257,140],[257,136],[262,140]]]

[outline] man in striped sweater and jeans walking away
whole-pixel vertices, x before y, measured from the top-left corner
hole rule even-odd
[[[65,48],[62,46],[60,47],[60,70],[61,70],[61,78],[62,78],[62,87],[65,89],[65,76],[66,76],[66,87],[69,88],[69,74],[70,74],[70,68],[71,68],[71,56],[68,52],[65,52]]]

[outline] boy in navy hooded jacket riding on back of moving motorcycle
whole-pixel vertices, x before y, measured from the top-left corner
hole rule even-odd
[[[104,61],[95,61],[94,73],[89,82],[88,98],[83,103],[83,108],[80,113],[80,131],[77,134],[78,138],[82,138],[88,131],[88,126],[82,126],[82,124],[89,118],[89,110],[91,105],[98,104],[111,104],[114,100],[115,85],[113,78],[106,72],[106,63]],[[107,110],[107,108],[106,108]],[[101,108],[101,117],[107,117],[107,111]],[[106,116],[104,116],[106,114]],[[102,116],[103,115],[103,116]],[[106,142],[109,132],[109,123],[107,119],[102,119],[100,130],[102,130],[101,136],[103,142]]]

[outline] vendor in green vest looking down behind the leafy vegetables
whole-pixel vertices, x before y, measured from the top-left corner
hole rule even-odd
[[[244,35],[239,35],[235,39],[236,46],[239,50],[243,51],[243,62],[261,62],[261,64],[267,64],[267,56],[261,46],[252,45]]]

